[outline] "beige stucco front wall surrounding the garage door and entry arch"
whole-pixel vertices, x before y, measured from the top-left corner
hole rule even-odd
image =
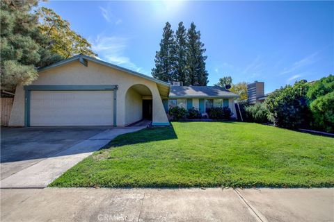
[[[60,67],[41,71],[38,79],[33,82],[33,85],[118,85],[116,119],[118,126],[127,125],[125,119],[125,96],[127,89],[135,84],[143,84],[152,92],[152,122],[168,123],[157,83],[125,71],[90,61],[88,61],[88,67],[85,67],[79,61],[74,61]],[[140,111],[138,110],[138,112]],[[24,89],[22,86],[16,89],[9,125],[24,126]]]

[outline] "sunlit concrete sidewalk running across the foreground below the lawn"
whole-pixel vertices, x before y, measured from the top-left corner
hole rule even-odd
[[[1,221],[334,221],[334,189],[1,189]]]

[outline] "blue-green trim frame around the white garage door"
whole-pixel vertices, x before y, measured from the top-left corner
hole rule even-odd
[[[113,91],[113,126],[117,126],[118,85],[26,85],[24,88],[24,126],[30,126],[31,91]]]

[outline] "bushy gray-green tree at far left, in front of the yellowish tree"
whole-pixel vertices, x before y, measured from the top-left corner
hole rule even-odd
[[[31,83],[38,77],[35,67],[61,59],[38,29],[38,15],[31,12],[37,5],[37,0],[1,1],[1,86],[8,89]]]

